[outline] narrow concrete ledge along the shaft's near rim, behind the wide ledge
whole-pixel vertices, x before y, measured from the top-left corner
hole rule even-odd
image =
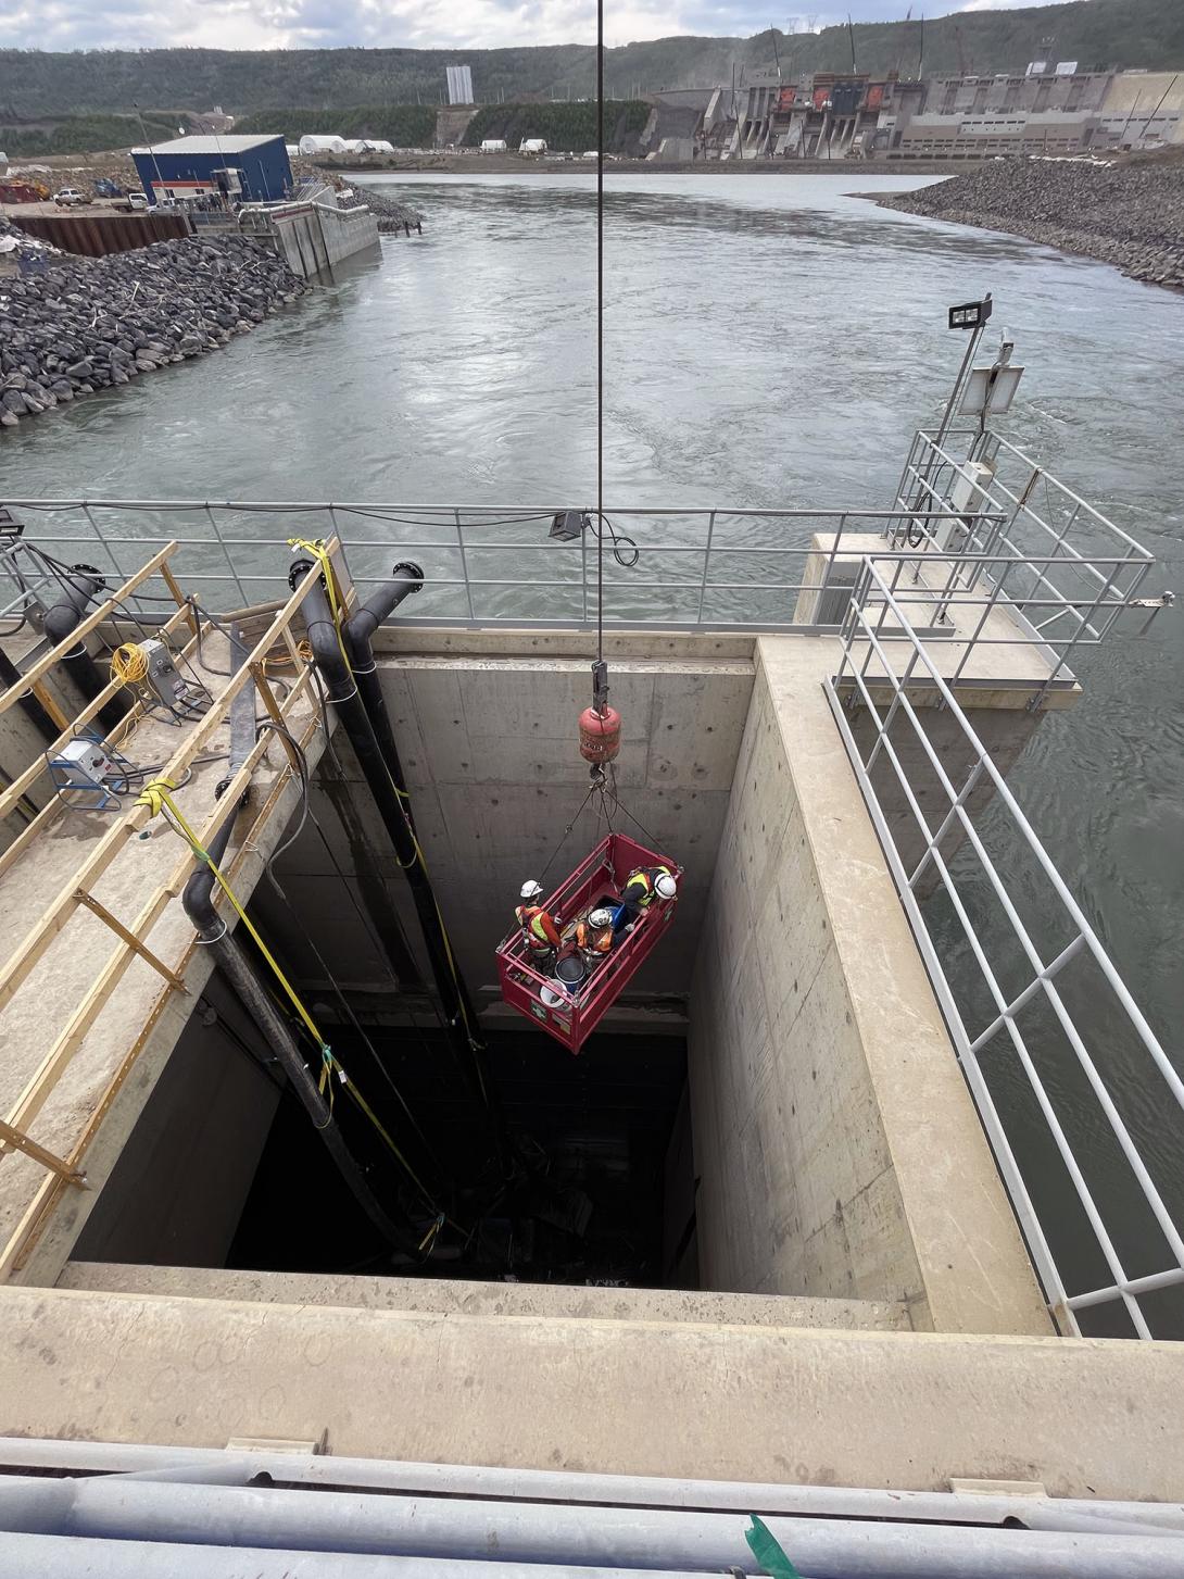
[[[617,1322],[709,1322],[731,1326],[826,1326],[908,1331],[903,1303],[794,1300],[682,1288],[586,1288],[565,1284],[464,1282],[447,1277],[347,1277],[332,1273],[246,1273],[207,1266],[69,1262],[58,1288],[242,1300],[265,1304],[357,1306],[436,1315],[537,1315]]]

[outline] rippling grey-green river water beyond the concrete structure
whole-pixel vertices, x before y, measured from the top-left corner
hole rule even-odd
[[[422,238],[385,238],[380,259],[218,355],[6,433],[3,489],[592,499],[592,177],[380,185],[423,210]],[[1184,302],[1102,264],[845,196],[916,185],[862,169],[609,178],[606,502],[886,505],[961,352],[946,306],[993,291],[1028,368],[1002,431],[1160,556],[1143,591],[1181,587]],[[530,611],[529,587],[519,606]],[[1043,723],[1010,782],[1167,1039],[1184,1007],[1184,617],[1160,614],[1146,636],[1129,619],[1129,638],[1081,655],[1085,699]],[[1179,1115],[1160,1127],[1163,1088],[1135,1053],[1118,1048],[1113,1072],[1179,1208]],[[1080,1082],[1062,1080],[1072,1107]],[[1111,1162],[1099,1138],[1119,1247],[1135,1273],[1160,1268],[1159,1236]],[[1048,1202],[1059,1187],[1048,1162]],[[1085,1251],[1078,1270],[1108,1281]],[[1181,1303],[1160,1314],[1175,1328]]]

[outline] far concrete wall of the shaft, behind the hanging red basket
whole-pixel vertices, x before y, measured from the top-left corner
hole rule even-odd
[[[541,878],[554,856],[546,881],[557,884],[605,832],[589,808],[559,848],[589,786],[576,722],[590,699],[590,673],[583,657],[521,655],[529,643],[499,635],[486,643],[486,655],[480,638],[467,638],[467,657],[380,658],[420,842],[461,968],[477,993],[496,982],[494,949],[511,925],[526,878]],[[638,639],[641,651],[652,646]],[[624,718],[620,802],[685,867],[674,927],[630,984],[630,995],[690,988],[753,684],[747,658],[699,655],[695,639],[676,651],[669,658],[617,657],[611,668],[613,704]],[[341,756],[357,785],[357,764],[350,753]],[[368,868],[371,887],[377,876],[412,940],[417,927],[406,880],[368,793],[355,793],[354,802],[369,854],[343,835],[322,783],[314,808],[332,850],[308,829],[279,870],[309,914],[333,916],[319,941],[341,979],[380,985],[385,966],[336,868],[350,876]],[[628,816],[619,815],[617,823],[644,842]],[[314,962],[300,963],[319,974]],[[426,973],[422,954],[420,963]]]

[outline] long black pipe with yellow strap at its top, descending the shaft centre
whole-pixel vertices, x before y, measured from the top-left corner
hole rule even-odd
[[[298,586],[311,568],[311,559],[297,561],[289,572],[292,586]],[[493,1115],[500,1153],[500,1118],[493,1104],[485,1045],[477,1036],[477,1014],[474,1012],[459,966],[450,955],[444,922],[436,905],[436,894],[420,857],[420,848],[406,812],[406,801],[399,799],[398,788],[382,755],[382,747],[371,726],[369,714],[362,701],[362,693],[346,663],[341,644],[338,643],[338,627],[333,621],[333,611],[328,606],[328,597],[320,581],[305,598],[305,622],[308,627],[308,641],[313,647],[317,669],[325,682],[328,699],[333,703],[344,725],[362,772],[369,785],[369,793],[374,796],[379,816],[390,834],[395,856],[407,878],[415,911],[420,917],[423,941],[428,949],[428,962],[431,963],[436,988],[444,1006],[445,1034],[458,1056],[458,1063]]]

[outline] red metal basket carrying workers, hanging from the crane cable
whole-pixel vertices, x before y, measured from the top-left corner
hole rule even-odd
[[[559,917],[560,932],[598,905],[614,905],[635,867],[669,867],[680,873],[669,856],[646,850],[627,834],[609,834],[545,902],[543,910]],[[657,947],[671,921],[674,898],[654,898],[636,921],[619,933],[613,949],[592,968],[579,988],[565,988],[554,976],[543,976],[530,962],[521,928],[515,927],[497,949],[502,998],[527,1015],[571,1053],[578,1053],[605,1012],[616,1003],[643,960]]]

